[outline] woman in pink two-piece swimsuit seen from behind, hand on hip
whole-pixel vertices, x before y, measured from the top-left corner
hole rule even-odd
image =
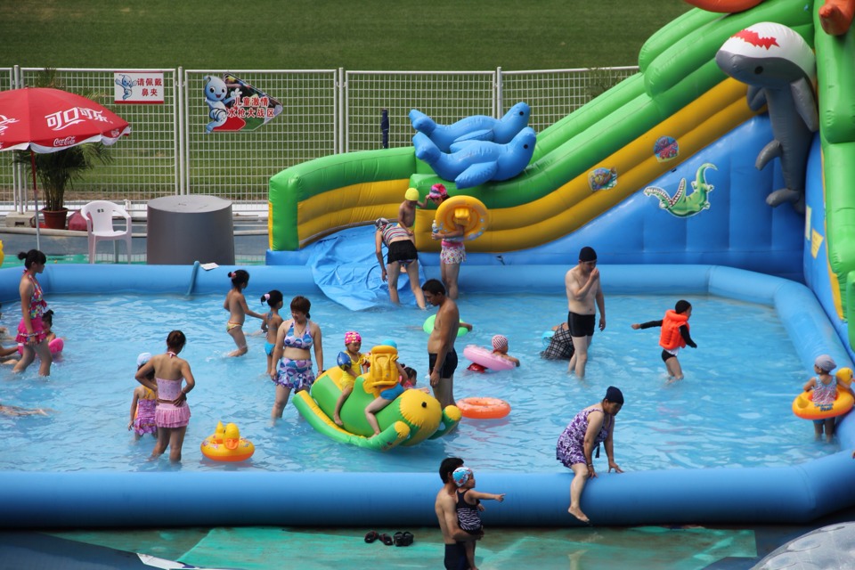
[[[169,447],[169,460],[181,460],[181,447],[187,424],[190,423],[190,406],[187,393],[196,387],[196,380],[190,371],[190,364],[178,357],[187,338],[181,330],[173,330],[167,336],[167,352],[152,356],[136,371],[136,381],[158,393],[158,407],[154,411],[154,420],[158,425],[158,443],[151,452],[151,459],[157,459]],[[154,380],[149,376],[154,372]],[[182,387],[182,380],[186,386]]]

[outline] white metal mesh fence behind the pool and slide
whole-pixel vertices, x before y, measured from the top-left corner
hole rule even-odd
[[[0,90],[35,85],[42,69],[0,68]],[[250,132],[208,134],[205,76],[223,70],[143,69],[162,73],[161,104],[113,102],[115,69],[57,69],[64,88],[100,94],[99,101],[133,127],[111,148],[112,164],[97,167],[66,194],[69,208],[91,199],[144,208],[170,194],[231,199],[236,211],[266,211],[267,182],[282,169],[346,151],[411,145],[407,117],[419,109],[438,123],[469,115],[501,117],[525,101],[541,131],[636,73],[635,67],[533,71],[229,70],[281,102],[279,116]],[[0,114],[3,110],[0,109]],[[11,153],[0,153],[0,211],[24,211],[31,182]]]

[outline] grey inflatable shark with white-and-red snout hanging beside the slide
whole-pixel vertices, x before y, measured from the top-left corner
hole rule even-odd
[[[805,169],[813,133],[819,129],[813,85],[817,61],[810,45],[792,28],[761,22],[730,37],[715,62],[730,77],[748,86],[748,106],[769,106],[775,139],[757,157],[761,170],[772,159],[781,159],[785,188],[766,198],[769,206],[792,202],[804,211]]]

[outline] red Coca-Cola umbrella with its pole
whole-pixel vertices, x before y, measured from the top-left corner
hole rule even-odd
[[[112,144],[131,126],[124,118],[91,99],[50,87],[24,87],[0,92],[0,151],[29,149],[33,198],[38,216],[36,155],[85,142]],[[36,224],[37,248],[40,248]]]

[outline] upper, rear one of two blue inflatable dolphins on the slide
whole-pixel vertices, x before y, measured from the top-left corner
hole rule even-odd
[[[461,118],[452,125],[438,125],[428,115],[413,109],[410,111],[410,122],[412,128],[426,134],[440,151],[449,152],[453,142],[490,141],[499,144],[510,142],[517,133],[528,126],[528,118],[531,114],[532,111],[527,103],[518,102],[502,118],[472,115]]]

